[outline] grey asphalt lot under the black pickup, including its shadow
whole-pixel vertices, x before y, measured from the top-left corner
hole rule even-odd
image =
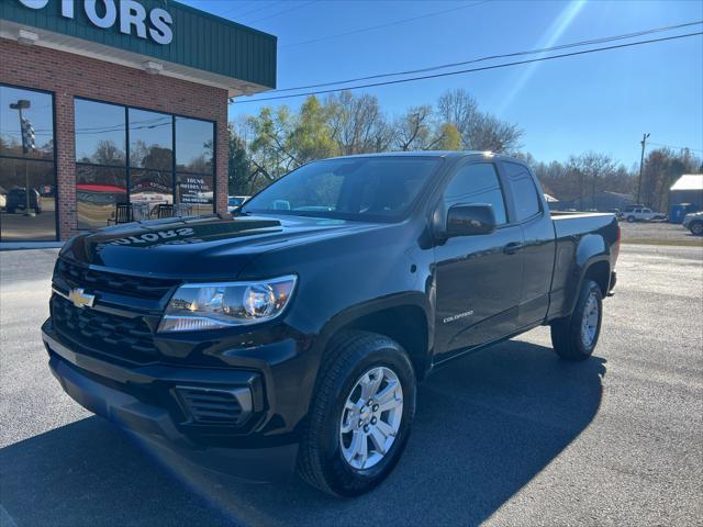
[[[243,485],[155,458],[63,393],[38,328],[56,250],[0,253],[0,525],[701,525],[703,249],[623,246],[595,357],[548,332],[444,369],[375,492]]]

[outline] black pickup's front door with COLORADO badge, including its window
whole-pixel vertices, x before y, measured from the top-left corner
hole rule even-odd
[[[459,166],[442,193],[435,221],[446,225],[451,205],[472,203],[491,204],[499,227],[491,234],[449,238],[435,247],[437,360],[510,335],[517,327],[523,236],[520,226],[509,223],[495,164]]]

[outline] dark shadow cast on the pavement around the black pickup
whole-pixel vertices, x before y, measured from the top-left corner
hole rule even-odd
[[[91,417],[0,450],[0,501],[18,525],[476,525],[589,425],[605,360],[567,363],[509,341],[432,375],[391,476],[356,500],[298,480],[245,485],[164,463]]]

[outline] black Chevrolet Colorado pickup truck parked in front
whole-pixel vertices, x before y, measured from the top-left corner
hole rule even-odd
[[[589,358],[618,248],[612,214],[550,214],[516,159],[327,159],[234,216],[74,237],[43,338],[64,390],[147,445],[356,495],[399,460],[434,369],[539,325]]]

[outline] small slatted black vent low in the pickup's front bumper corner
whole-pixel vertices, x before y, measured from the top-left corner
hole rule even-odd
[[[176,391],[194,423],[237,425],[245,417],[236,393],[248,392],[248,389],[226,391],[179,386]]]

